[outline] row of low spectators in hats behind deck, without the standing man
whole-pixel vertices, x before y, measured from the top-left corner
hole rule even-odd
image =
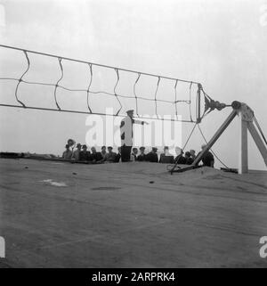
[[[121,147],[117,147],[117,152],[113,151],[113,147],[106,146],[101,147],[101,151],[96,151],[95,147],[88,151],[87,146],[84,144],[77,143],[77,149],[75,151],[70,150],[69,144],[66,144],[66,151],[63,152],[62,158],[66,160],[73,160],[79,162],[91,162],[91,163],[118,163],[122,160]],[[202,145],[204,149],[206,145]],[[169,153],[168,146],[164,147],[164,151],[160,154],[158,159],[158,148],[152,147],[152,150],[148,153],[145,152],[145,147],[138,148],[134,147],[130,153],[130,159],[127,161],[146,161],[153,163],[169,163],[169,164],[184,164],[191,165],[196,159],[196,151],[190,150],[183,152],[178,148],[176,150],[177,156]],[[208,167],[214,167],[214,156],[210,151],[207,151],[205,156],[202,158],[203,165]]]

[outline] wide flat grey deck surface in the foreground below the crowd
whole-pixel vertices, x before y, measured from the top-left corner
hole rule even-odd
[[[0,159],[0,235],[0,267],[267,267],[267,176]]]

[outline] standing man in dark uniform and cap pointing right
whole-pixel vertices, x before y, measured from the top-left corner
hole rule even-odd
[[[134,110],[127,110],[127,116],[120,122],[120,139],[121,139],[121,161],[127,162],[131,160],[131,151],[133,147],[133,125],[148,124],[141,120],[135,120]]]

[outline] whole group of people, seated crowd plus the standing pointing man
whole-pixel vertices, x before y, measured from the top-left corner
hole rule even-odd
[[[164,147],[164,152],[160,154],[158,159],[158,148],[153,147],[149,153],[145,153],[145,147],[133,148],[133,136],[134,136],[134,124],[145,125],[148,124],[145,121],[134,119],[134,110],[127,110],[125,118],[122,118],[120,123],[120,139],[121,146],[117,148],[117,152],[113,151],[111,146],[101,147],[101,151],[96,151],[95,147],[91,148],[91,151],[87,150],[87,146],[77,143],[77,150],[70,151],[70,145],[73,145],[73,141],[69,139],[66,145],[66,151],[63,152],[63,159],[70,159],[75,161],[86,161],[93,163],[103,162],[128,162],[128,161],[148,161],[155,163],[178,163],[191,165],[196,159],[196,152],[194,150],[186,151],[183,153],[181,149],[176,150],[177,157],[174,159],[174,155],[169,153],[168,147]],[[206,145],[202,145],[202,150]],[[210,151],[205,151],[202,156],[203,165],[214,167],[214,156]]]

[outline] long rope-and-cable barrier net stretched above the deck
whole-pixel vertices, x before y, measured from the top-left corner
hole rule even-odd
[[[199,122],[198,82],[0,47],[2,106]]]

